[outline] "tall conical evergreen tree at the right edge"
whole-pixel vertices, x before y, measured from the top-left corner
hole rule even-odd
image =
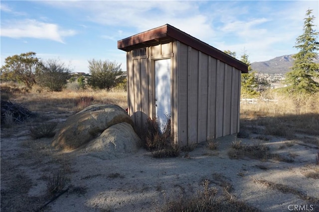
[[[286,91],[292,94],[305,93],[313,94],[319,91],[319,83],[314,80],[318,77],[319,64],[314,63],[318,58],[319,42],[318,32],[315,32],[313,24],[315,16],[311,15],[312,9],[308,9],[304,20],[304,34],[296,39],[295,48],[299,53],[293,55],[294,64],[292,71],[287,72]]]

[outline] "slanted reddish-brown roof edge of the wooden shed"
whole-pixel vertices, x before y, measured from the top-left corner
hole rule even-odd
[[[118,49],[129,52],[133,49],[152,45],[153,43],[170,41],[173,39],[229,64],[242,72],[248,72],[248,66],[246,64],[169,24],[122,39],[118,41]]]

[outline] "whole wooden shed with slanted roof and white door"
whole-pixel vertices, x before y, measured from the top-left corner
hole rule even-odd
[[[239,132],[246,64],[169,24],[120,40],[118,49],[127,52],[128,113],[138,129],[170,116],[180,145]]]

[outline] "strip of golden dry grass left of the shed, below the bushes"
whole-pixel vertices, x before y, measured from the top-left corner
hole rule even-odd
[[[48,111],[75,111],[78,112],[81,107],[85,105],[76,104],[81,100],[81,97],[89,97],[94,99],[90,104],[117,104],[123,109],[127,108],[127,92],[119,89],[93,90],[85,89],[75,91],[72,89],[65,89],[61,92],[50,92],[32,88],[28,92],[17,83],[1,82],[1,90],[9,90],[5,95],[10,96],[10,101],[23,103],[23,105],[33,112],[48,112]],[[12,91],[14,90],[14,91]],[[23,95],[22,95],[23,94]],[[7,97],[6,97],[7,98]],[[81,101],[80,101],[81,102]],[[89,102],[85,100],[84,102]],[[80,103],[84,104],[84,103]]]

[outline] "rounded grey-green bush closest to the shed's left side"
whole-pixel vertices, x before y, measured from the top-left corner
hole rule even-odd
[[[123,75],[121,64],[116,62],[93,59],[89,61],[89,71],[91,76],[88,79],[88,84],[93,88],[109,90],[126,78]]]

